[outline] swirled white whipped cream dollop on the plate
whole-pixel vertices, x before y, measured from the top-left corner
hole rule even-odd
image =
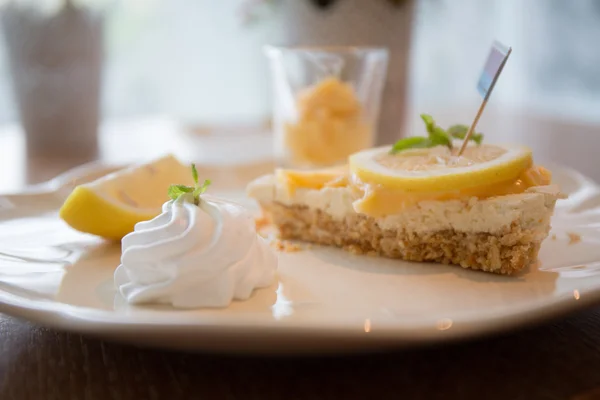
[[[186,196],[165,203],[123,238],[122,251],[115,285],[130,304],[226,307],[269,286],[277,268],[250,213],[206,195],[198,206]]]

